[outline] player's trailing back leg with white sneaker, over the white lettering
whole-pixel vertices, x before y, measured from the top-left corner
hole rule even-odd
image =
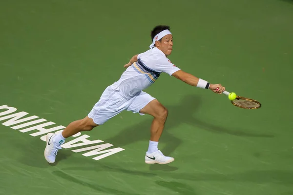
[[[71,137],[81,131],[90,131],[96,126],[98,125],[93,122],[93,119],[85,117],[71,122],[62,133],[57,135],[48,133],[46,136],[46,148],[44,151],[44,156],[47,162],[55,162],[57,152],[61,149],[61,145],[65,142],[65,138]]]

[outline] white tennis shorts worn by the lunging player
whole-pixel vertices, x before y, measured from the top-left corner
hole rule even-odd
[[[115,117],[124,110],[144,115],[139,111],[153,99],[155,98],[151,97],[144,91],[141,91],[137,96],[134,96],[131,99],[126,99],[108,86],[103,92],[100,100],[94,105],[88,114],[88,117],[92,118],[96,124],[102,125],[107,120]]]

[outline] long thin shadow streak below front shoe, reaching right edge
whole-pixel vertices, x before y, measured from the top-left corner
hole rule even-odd
[[[68,167],[63,168],[62,171],[96,171],[96,172],[117,172],[125,173],[133,176],[145,176],[145,177],[155,177],[164,176],[164,178],[170,179],[182,179],[190,181],[231,181],[231,182],[251,182],[251,183],[271,183],[271,184],[281,184],[281,185],[293,185],[293,171],[285,170],[267,170],[267,171],[257,171],[251,170],[246,172],[239,172],[233,174],[209,174],[209,173],[175,173],[168,172],[162,173],[158,172],[143,172],[125,169],[129,163],[107,163],[107,165],[98,163],[95,166],[89,167]],[[135,169],[141,167],[137,163],[132,163],[131,167]],[[167,184],[166,184],[167,185]]]

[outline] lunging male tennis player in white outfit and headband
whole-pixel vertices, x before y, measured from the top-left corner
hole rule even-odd
[[[221,84],[210,84],[190,75],[167,59],[173,47],[173,37],[169,30],[169,26],[159,25],[151,31],[152,44],[150,49],[130,59],[124,66],[127,69],[121,78],[105,89],[100,100],[93,106],[87,117],[71,122],[58,135],[47,134],[44,156],[49,163],[55,162],[57,152],[61,149],[65,138],[81,131],[90,131],[124,110],[154,117],[145,162],[147,164],[167,164],[174,161],[173,157],[164,156],[158,149],[159,139],[168,115],[167,108],[142,90],[153,84],[162,72],[191,86],[210,89],[215,93],[222,93],[225,87]]]

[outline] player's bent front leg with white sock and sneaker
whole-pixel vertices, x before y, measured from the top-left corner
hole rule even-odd
[[[164,130],[168,116],[168,110],[158,100],[149,102],[140,113],[148,114],[154,117],[150,129],[150,141],[148,151],[146,152],[145,162],[147,164],[167,164],[174,161],[174,158],[164,156],[158,149],[159,139]]]

